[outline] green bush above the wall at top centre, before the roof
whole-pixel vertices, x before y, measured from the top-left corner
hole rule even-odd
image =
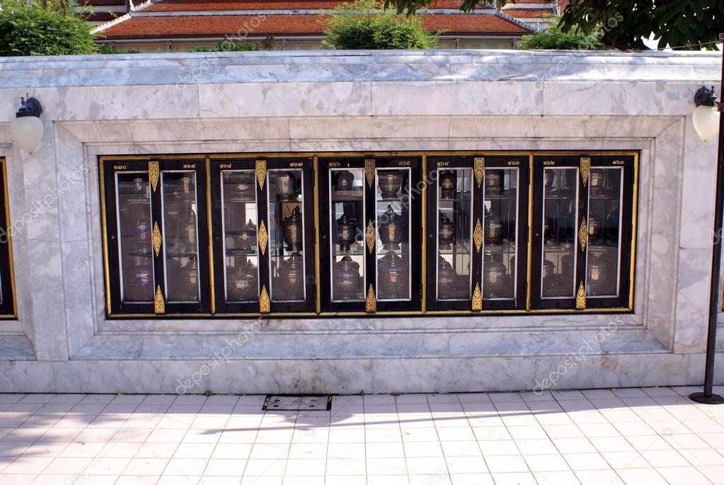
[[[379,10],[374,0],[357,0],[329,11],[324,46],[334,49],[428,49],[437,35],[417,17]]]

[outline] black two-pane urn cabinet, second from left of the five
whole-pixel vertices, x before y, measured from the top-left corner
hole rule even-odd
[[[217,313],[314,310],[312,182],[310,158],[214,160]]]

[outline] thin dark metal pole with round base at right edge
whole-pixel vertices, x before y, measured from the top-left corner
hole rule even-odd
[[[724,34],[719,35],[724,41]],[[724,64],[722,64],[722,78],[719,96],[722,96],[724,87]],[[694,392],[691,400],[702,404],[724,404],[724,397],[713,393],[714,388],[714,354],[717,346],[717,316],[719,313],[719,273],[722,262],[722,225],[724,219],[724,112],[723,103],[719,103],[719,149],[717,153],[717,192],[714,206],[714,243],[712,244],[712,280],[709,289],[709,332],[707,333],[707,360],[704,370],[704,392]]]

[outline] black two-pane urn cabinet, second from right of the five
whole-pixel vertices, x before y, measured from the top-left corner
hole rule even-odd
[[[524,308],[529,157],[427,161],[427,308]]]

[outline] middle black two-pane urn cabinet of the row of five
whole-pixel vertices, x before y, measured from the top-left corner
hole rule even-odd
[[[419,311],[421,158],[319,159],[321,311]]]

